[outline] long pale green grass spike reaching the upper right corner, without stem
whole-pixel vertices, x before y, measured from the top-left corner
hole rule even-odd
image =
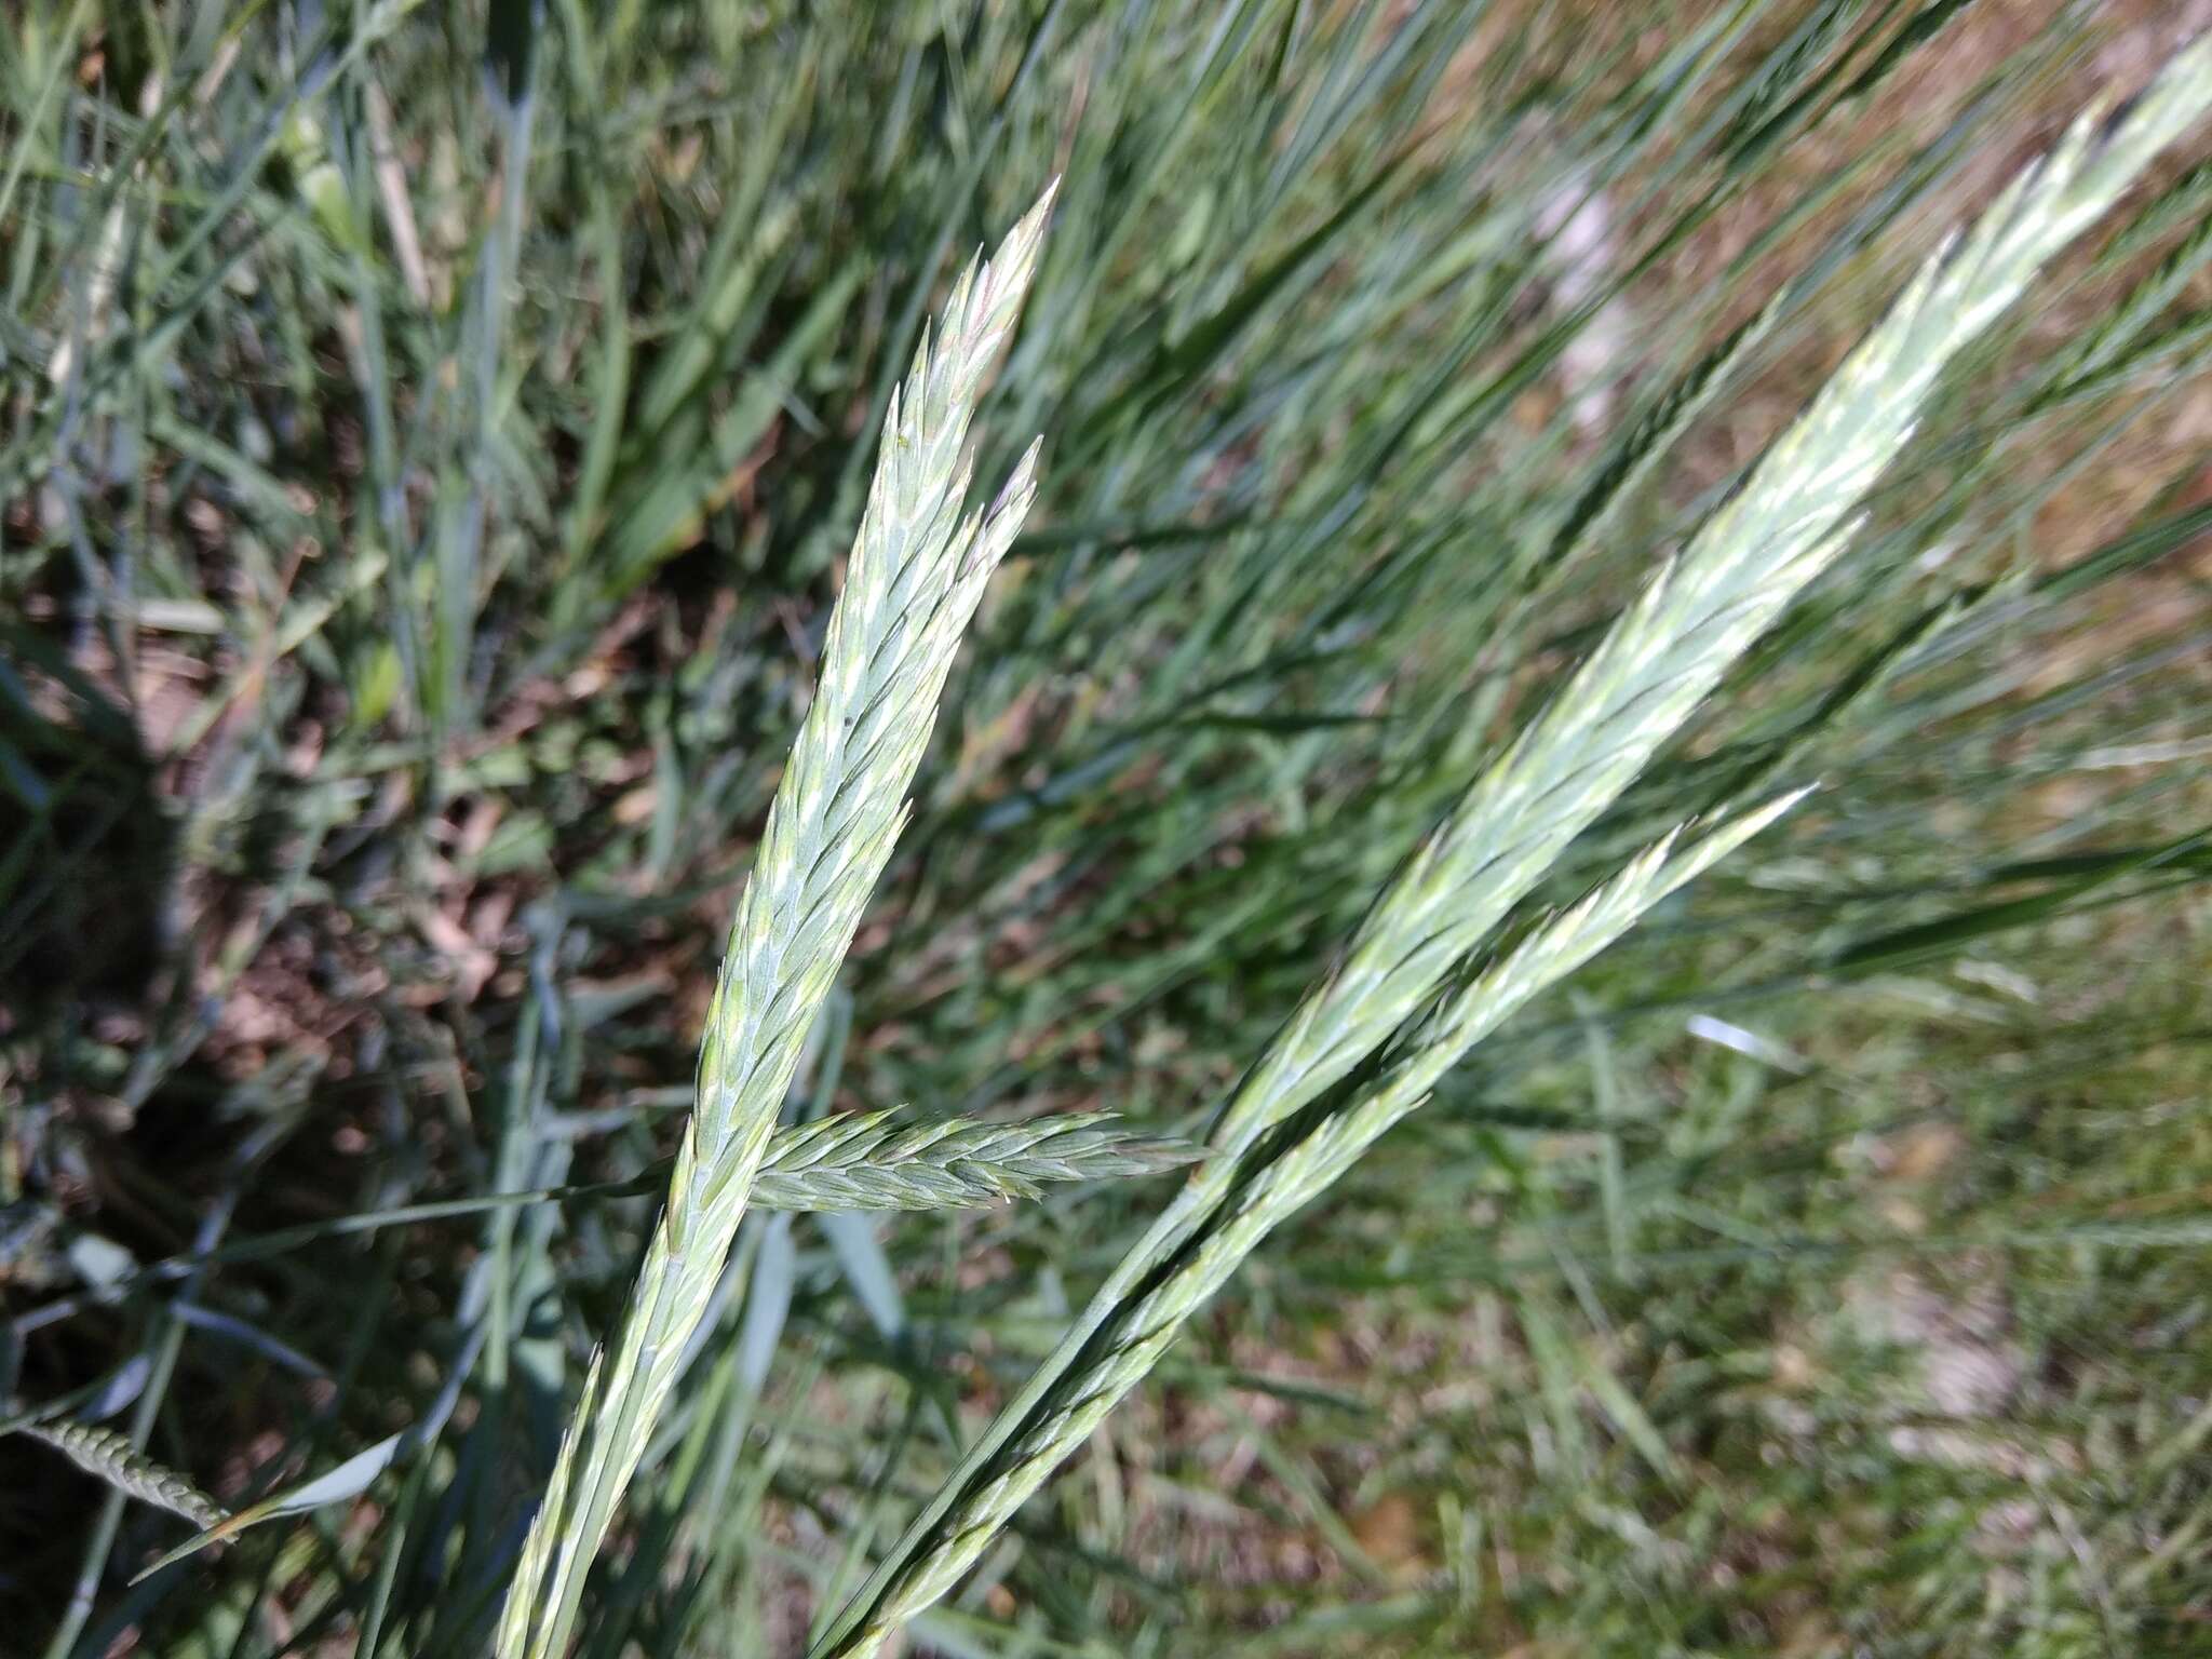
[[[1248,1144],[1316,1097],[1524,898],[1840,551],[1849,513],[1911,438],[1944,363],[2212,102],[2199,42],[2117,124],[2084,115],[1973,232],[1933,257],[1812,407],[1462,796],[1369,911],[1336,973],[1239,1086]]]

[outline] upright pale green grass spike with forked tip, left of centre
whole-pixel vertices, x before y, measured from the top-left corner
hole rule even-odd
[[[500,1615],[500,1659],[564,1655],[584,1573],[699,1325],[801,1048],[905,823],[938,695],[1035,491],[1035,445],[989,513],[962,518],[969,418],[1013,330],[1051,190],[953,283],[885,416],[830,615],[821,684],[730,927],[699,1093],[611,1347],[593,1356]]]

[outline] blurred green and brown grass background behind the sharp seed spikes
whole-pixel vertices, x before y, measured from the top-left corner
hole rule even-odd
[[[2203,11],[2203,7],[2194,7]],[[11,1652],[473,1652],[891,376],[1055,173],[1046,434],[796,1110],[1188,1133],[2174,4],[4,24]],[[2212,1652],[2212,164],[2006,319],[1606,849],[1823,794],[1484,1048],[914,1635]],[[1159,1201],[754,1219],[591,1655],[796,1652]],[[394,1219],[442,1203],[434,1217]],[[212,1252],[212,1256],[210,1256]]]

